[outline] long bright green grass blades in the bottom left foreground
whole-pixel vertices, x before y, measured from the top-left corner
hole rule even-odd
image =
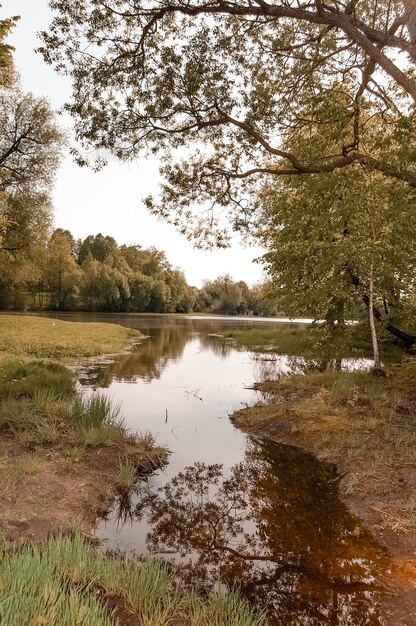
[[[178,590],[171,567],[153,559],[97,554],[79,535],[41,547],[10,549],[3,543],[0,552],[4,625],[116,626],[120,622],[107,608],[111,598],[141,626],[265,624],[237,591],[203,597]]]

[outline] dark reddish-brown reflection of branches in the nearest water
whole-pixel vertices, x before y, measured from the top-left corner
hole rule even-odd
[[[186,580],[238,583],[270,624],[381,624],[387,555],[337,496],[330,468],[287,446],[253,443],[230,476],[196,464],[143,496],[149,549],[176,551]]]

